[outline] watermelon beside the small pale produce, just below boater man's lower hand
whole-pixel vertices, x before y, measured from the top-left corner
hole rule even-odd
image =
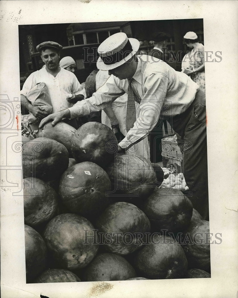
[[[106,169],[111,180],[111,197],[117,201],[145,199],[155,189],[155,171],[146,159],[119,155]]]

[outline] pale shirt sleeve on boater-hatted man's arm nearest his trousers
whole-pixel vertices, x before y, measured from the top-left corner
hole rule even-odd
[[[151,74],[144,83],[144,94],[139,106],[133,128],[128,131],[125,138],[119,143],[122,148],[128,148],[133,143],[144,139],[158,122],[162,105],[166,100],[168,78],[161,74]]]

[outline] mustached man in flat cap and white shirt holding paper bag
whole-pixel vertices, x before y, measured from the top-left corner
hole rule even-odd
[[[42,119],[47,116],[46,111],[32,105],[27,100],[27,93],[38,83],[46,84],[53,113],[72,107],[78,100],[83,100],[86,93],[76,76],[59,66],[62,49],[60,44],[54,41],[45,41],[39,44],[36,49],[41,53],[41,59],[46,67],[29,75],[21,90],[21,103],[36,118]],[[76,125],[75,120],[71,122],[71,125]]]

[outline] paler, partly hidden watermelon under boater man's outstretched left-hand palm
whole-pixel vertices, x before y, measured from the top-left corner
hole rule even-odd
[[[65,122],[59,122],[55,126],[48,122],[38,130],[36,137],[49,138],[63,144],[67,148],[69,156],[72,156],[71,145],[75,132],[76,129]]]

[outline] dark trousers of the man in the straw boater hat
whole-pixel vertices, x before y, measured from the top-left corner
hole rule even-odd
[[[168,121],[183,151],[183,175],[192,193],[187,196],[203,219],[209,220],[205,93],[197,91],[190,107]]]

